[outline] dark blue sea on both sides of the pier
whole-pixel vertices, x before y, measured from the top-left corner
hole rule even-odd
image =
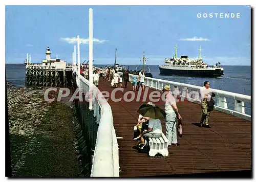
[[[104,67],[105,65],[95,65],[97,67]],[[138,65],[125,65],[130,70],[142,69]],[[199,78],[199,77],[184,77],[184,76],[162,76],[159,75],[160,71],[158,65],[146,65],[154,78],[163,80],[175,81],[180,83],[187,83],[191,85],[203,86],[204,81],[209,81],[212,88],[226,90],[228,92],[251,95],[251,66],[223,66],[223,78]],[[24,64],[6,64],[6,77],[7,81],[12,82],[14,85],[23,87],[25,86],[25,65]]]

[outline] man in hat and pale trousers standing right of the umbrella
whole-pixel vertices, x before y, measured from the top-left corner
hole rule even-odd
[[[165,113],[166,113],[166,137],[169,145],[178,146],[177,142],[177,117],[181,120],[181,115],[178,111],[178,107],[174,96],[170,93],[170,87],[165,85],[163,87],[165,94]]]

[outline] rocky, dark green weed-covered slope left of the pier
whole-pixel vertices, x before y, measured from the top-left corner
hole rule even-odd
[[[79,176],[73,109],[46,89],[7,86],[12,177]]]

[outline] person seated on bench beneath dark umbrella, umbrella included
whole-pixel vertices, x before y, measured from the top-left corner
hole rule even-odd
[[[162,125],[159,119],[163,119],[166,116],[166,113],[157,106],[150,104],[142,104],[138,109],[138,112],[143,116],[141,119],[148,121],[147,131],[141,133],[141,144],[145,144],[146,138],[160,138],[162,136]]]

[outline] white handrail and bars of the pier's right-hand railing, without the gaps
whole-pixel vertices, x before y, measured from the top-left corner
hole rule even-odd
[[[118,74],[122,74],[122,73],[118,72]],[[133,74],[129,74],[130,80],[132,79],[133,76],[134,76]],[[145,86],[161,90],[165,84],[170,85],[170,86],[172,85],[173,86],[173,87],[171,87],[172,92],[176,93],[179,96],[181,96],[179,94],[179,87],[182,87],[180,89],[180,91],[184,90],[184,88],[185,88],[187,90],[187,93],[189,92],[189,89],[190,89],[190,91],[191,90],[195,91],[198,93],[198,96],[199,96],[200,88],[201,88],[201,86],[190,85],[190,84],[186,84],[186,83],[179,83],[179,82],[174,82],[174,81],[161,80],[161,79],[157,79],[157,78],[145,77]],[[251,96],[227,92],[227,91],[215,89],[215,88],[212,88],[212,90],[216,94],[216,98],[217,98],[217,104],[215,105],[216,110],[228,113],[233,116],[243,118],[245,120],[249,120],[249,121],[251,120],[251,116],[248,115],[247,113],[245,113],[245,108],[250,109],[250,107],[246,107],[244,105],[244,103],[248,103],[248,104],[251,103]],[[185,95],[183,97],[188,98],[187,95]],[[228,103],[226,99],[233,99],[233,103]],[[191,99],[189,101],[198,103],[198,102],[200,102],[200,99],[195,98],[195,99]],[[228,108],[227,104],[234,105],[234,109]]]

